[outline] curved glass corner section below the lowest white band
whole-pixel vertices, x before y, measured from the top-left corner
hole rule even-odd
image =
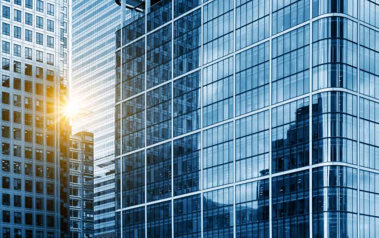
[[[357,170],[312,169],[313,237],[358,237]]]

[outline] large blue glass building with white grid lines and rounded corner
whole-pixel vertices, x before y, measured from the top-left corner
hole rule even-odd
[[[147,3],[115,36],[117,236],[378,236],[378,27],[369,0]]]

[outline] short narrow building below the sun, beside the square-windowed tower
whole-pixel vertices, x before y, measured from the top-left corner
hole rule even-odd
[[[93,134],[70,135],[70,236],[93,236]]]

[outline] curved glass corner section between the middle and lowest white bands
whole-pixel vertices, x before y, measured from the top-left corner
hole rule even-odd
[[[357,96],[328,91],[312,97],[312,163],[357,164]]]

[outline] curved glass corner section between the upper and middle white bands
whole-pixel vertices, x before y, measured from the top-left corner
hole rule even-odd
[[[313,22],[312,89],[357,91],[357,24],[343,17]]]

